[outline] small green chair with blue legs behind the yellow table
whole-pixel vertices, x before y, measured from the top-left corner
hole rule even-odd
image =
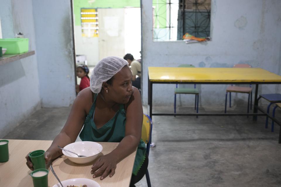
[[[182,64],[178,67],[195,67],[191,64]],[[174,90],[174,113],[176,113],[176,105],[177,105],[177,94],[195,94],[195,107],[196,113],[198,113],[198,103],[199,103],[199,90],[196,88],[196,84],[194,84],[194,88],[178,88],[178,84],[176,84],[176,88]],[[196,116],[198,118],[198,116]]]

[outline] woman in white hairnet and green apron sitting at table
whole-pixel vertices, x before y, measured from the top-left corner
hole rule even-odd
[[[46,163],[62,155],[57,146],[75,142],[84,125],[79,135],[82,141],[120,142],[111,153],[98,157],[91,170],[93,178],[112,177],[116,164],[138,148],[130,186],[142,179],[148,167],[141,140],[143,108],[131,79],[126,60],[114,56],[102,59],[92,72],[90,87],[78,93],[66,124],[46,151]],[[30,158],[26,158],[33,169]]]

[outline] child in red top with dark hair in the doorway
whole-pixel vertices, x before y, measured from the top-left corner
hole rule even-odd
[[[78,65],[77,66],[77,76],[81,78],[80,85],[76,85],[76,92],[79,93],[84,88],[90,86],[90,78],[88,76],[89,68],[87,65]]]

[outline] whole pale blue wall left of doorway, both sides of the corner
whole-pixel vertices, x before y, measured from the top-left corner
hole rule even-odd
[[[76,94],[70,2],[1,1],[3,37],[23,33],[35,55],[0,65],[0,138],[41,107],[72,105]]]

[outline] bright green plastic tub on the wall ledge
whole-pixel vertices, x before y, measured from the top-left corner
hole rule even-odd
[[[5,54],[20,54],[28,51],[28,38],[0,39],[0,47],[6,48]]]

